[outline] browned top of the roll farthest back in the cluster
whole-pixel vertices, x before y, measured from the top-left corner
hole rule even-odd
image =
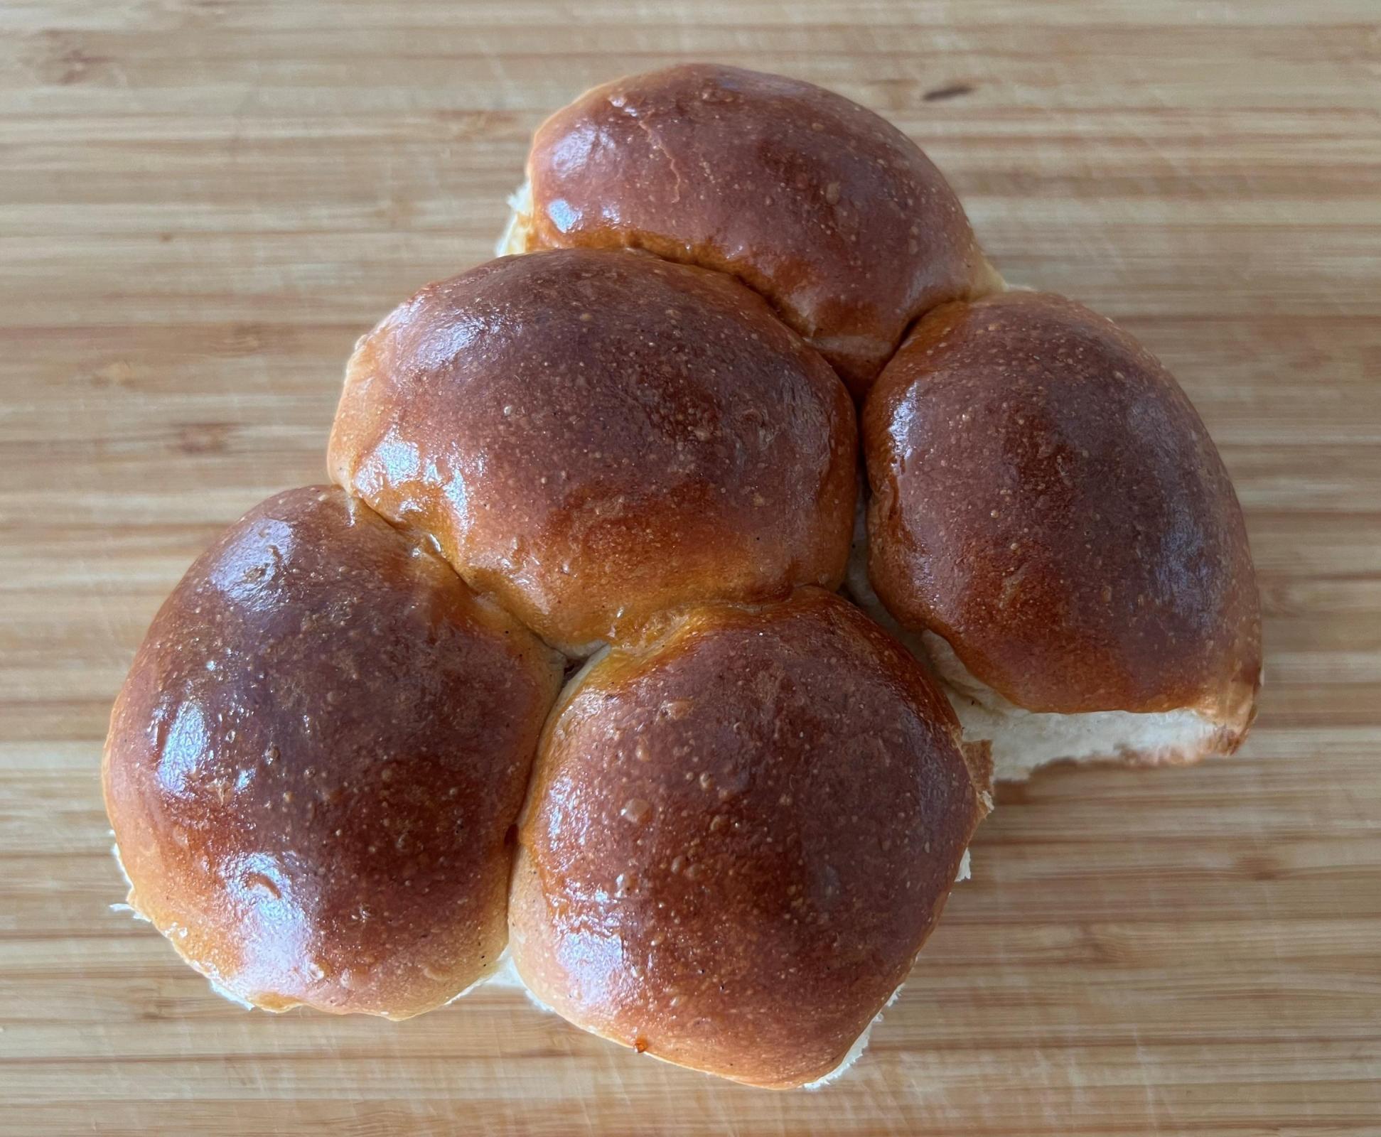
[[[528,247],[646,249],[739,276],[862,398],[907,325],[992,286],[910,138],[809,83],[690,64],[595,87],[528,164]]]

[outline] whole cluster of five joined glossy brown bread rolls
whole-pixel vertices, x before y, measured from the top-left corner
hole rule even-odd
[[[906,978],[994,764],[1240,743],[1201,421],[1007,290],[876,115],[599,87],[501,251],[359,341],[334,488],[232,525],[115,706],[130,905],[226,993],[405,1018],[511,955],[577,1026],[800,1086]]]

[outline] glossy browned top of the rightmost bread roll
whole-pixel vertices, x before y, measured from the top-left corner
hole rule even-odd
[[[1008,293],[927,316],[863,412],[870,576],[1040,711],[1246,725],[1261,618],[1242,510],[1171,374],[1110,321]]]

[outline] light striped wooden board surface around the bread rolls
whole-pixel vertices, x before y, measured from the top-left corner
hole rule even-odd
[[[0,1131],[1381,1131],[1375,0],[0,6]],[[541,116],[673,59],[887,113],[1014,280],[1177,372],[1247,510],[1243,753],[1003,794],[863,1064],[718,1083],[479,992],[247,1014],[120,898],[99,742],[341,365],[489,254]]]

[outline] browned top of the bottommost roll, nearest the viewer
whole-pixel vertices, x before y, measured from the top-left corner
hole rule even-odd
[[[981,805],[949,705],[856,608],[710,605],[548,725],[511,948],[539,999],[760,1086],[837,1067],[906,977]]]

